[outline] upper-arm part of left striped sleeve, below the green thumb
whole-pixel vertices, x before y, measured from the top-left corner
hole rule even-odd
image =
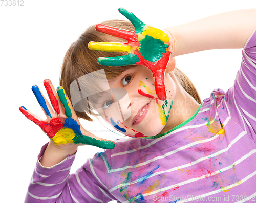
[[[75,174],[70,175],[69,186],[63,191],[72,194],[72,199],[67,202],[103,203],[117,200],[110,194],[106,184],[109,170],[108,157],[110,157],[107,155],[108,152],[110,150],[96,153]]]

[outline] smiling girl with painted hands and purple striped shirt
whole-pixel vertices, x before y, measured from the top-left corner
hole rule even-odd
[[[47,120],[20,107],[52,140],[38,155],[26,202],[255,201],[256,10],[218,14],[164,32],[119,11],[135,32],[122,31],[133,31],[124,21],[104,22],[120,29],[96,28],[128,43],[89,47],[120,53],[89,50],[90,41],[117,41],[89,28],[65,56],[63,88],[56,93],[44,81],[54,110],[32,87]],[[215,89],[201,105],[193,84],[175,69],[174,57],[220,48],[244,48],[241,69],[233,87],[226,93]],[[123,57],[122,51],[129,54]],[[96,63],[102,56],[98,62],[108,66]],[[113,56],[119,57],[108,58]],[[97,138],[76,115],[102,116],[131,138],[115,143]],[[85,144],[107,150],[69,175],[77,146]]]

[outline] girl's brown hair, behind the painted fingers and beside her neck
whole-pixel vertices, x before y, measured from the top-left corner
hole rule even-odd
[[[134,26],[129,21],[108,20],[102,22],[102,24],[134,31]],[[104,69],[106,78],[112,80],[119,76],[123,71],[134,67],[133,65],[120,67],[108,67],[99,65],[97,63],[97,58],[99,57],[122,56],[127,53],[92,51],[88,48],[88,43],[90,41],[125,42],[124,39],[97,32],[95,30],[95,25],[93,25],[90,26],[74,43],[72,43],[63,59],[60,75],[60,85],[66,90],[69,98],[71,98],[70,84],[83,75]],[[197,89],[195,88],[193,83],[187,78],[187,76],[177,68],[175,68],[174,74],[180,82],[181,86],[185,89],[185,91],[190,94],[199,104],[201,104],[201,99],[197,92]],[[91,82],[88,82],[86,84],[88,86],[88,89],[95,88],[95,84],[92,84]],[[93,121],[93,119],[89,116],[93,115],[90,111],[76,111],[76,114],[79,118]]]

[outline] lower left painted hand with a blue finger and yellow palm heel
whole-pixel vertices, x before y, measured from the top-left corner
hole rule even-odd
[[[32,86],[32,91],[42,110],[44,110],[47,119],[42,120],[23,106],[19,110],[29,120],[40,126],[55,145],[71,143],[94,145],[103,149],[113,149],[115,147],[114,142],[98,138],[81,126],[63,88],[58,87],[56,93],[51,81],[48,79],[44,81],[44,85],[54,110],[36,85]]]

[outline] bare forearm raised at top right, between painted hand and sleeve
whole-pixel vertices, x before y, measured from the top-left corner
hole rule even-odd
[[[210,49],[243,48],[256,28],[256,9],[221,13],[166,28],[172,57]]]

